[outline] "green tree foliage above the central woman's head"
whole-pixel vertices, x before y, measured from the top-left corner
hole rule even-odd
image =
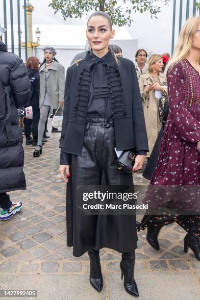
[[[133,12],[150,12],[150,16],[157,18],[160,12],[159,0],[51,0],[51,6],[56,12],[61,12],[66,18],[81,18],[93,11],[104,11],[110,15],[113,24],[118,26],[131,25]],[[170,0],[161,0],[167,5]],[[123,3],[124,2],[124,3]],[[123,5],[122,5],[123,4]]]

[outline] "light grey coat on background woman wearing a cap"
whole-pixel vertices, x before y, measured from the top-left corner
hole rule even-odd
[[[40,68],[40,107],[45,99],[45,64]],[[65,68],[56,61],[52,61],[47,75],[47,91],[52,109],[57,109],[58,102],[64,102]]]

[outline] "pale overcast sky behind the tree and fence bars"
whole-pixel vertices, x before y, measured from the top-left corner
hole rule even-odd
[[[9,16],[9,0],[7,0],[7,11]],[[17,7],[16,0],[13,1],[14,5],[14,23],[17,23]],[[23,4],[21,0],[21,4]],[[87,17],[82,19],[67,19],[64,21],[60,13],[54,15],[54,10],[48,7],[51,0],[30,0],[34,6],[32,14],[33,24],[86,24]],[[121,2],[119,0],[119,2]],[[190,1],[190,15],[192,16],[193,1]],[[3,0],[0,0],[0,22],[3,23]],[[161,12],[157,15],[158,19],[151,19],[150,14],[146,13],[133,13],[132,19],[134,22],[130,27],[127,26],[127,30],[130,32],[133,39],[138,40],[139,48],[145,48],[148,52],[162,53],[165,51],[171,52],[172,45],[172,19],[173,19],[173,0],[171,0],[169,6],[165,6],[162,1],[158,1],[161,6]],[[183,1],[183,16],[182,23],[185,21],[186,1]],[[176,0],[176,30],[175,36],[178,35],[178,16],[179,16],[179,0]],[[9,17],[7,17],[7,23]],[[21,9],[21,22],[23,23],[23,10]],[[41,32],[42,34],[42,32]]]

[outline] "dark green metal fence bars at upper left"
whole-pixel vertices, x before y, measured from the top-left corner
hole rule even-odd
[[[8,4],[9,3],[9,4]],[[26,22],[26,0],[17,0],[17,20],[18,20],[18,51],[19,56],[21,57],[21,22],[20,22],[20,7],[22,7],[22,3],[24,4],[24,21],[25,21],[25,59],[27,59],[27,22]],[[14,30],[13,30],[13,0],[3,0],[3,20],[4,20],[4,27],[7,28],[7,5],[10,6],[10,25],[11,25],[11,49],[14,53]],[[7,43],[7,31],[4,33],[5,44],[8,46]]]

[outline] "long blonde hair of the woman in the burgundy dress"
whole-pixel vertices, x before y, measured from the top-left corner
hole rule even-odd
[[[174,54],[172,58],[170,58],[165,69],[165,74],[167,74],[169,68],[171,69],[176,62],[183,60],[187,56],[193,44],[195,31],[198,29],[199,25],[200,17],[193,17],[185,22],[180,31]]]

